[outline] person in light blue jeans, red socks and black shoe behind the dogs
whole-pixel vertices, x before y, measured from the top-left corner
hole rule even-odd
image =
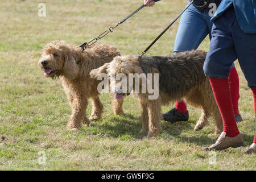
[[[190,2],[191,0],[189,0],[189,3]],[[180,18],[174,44],[174,53],[197,49],[207,35],[212,39],[213,23],[210,22],[210,19],[214,14],[214,8],[216,9],[220,3],[221,0],[193,1],[193,4],[185,10]],[[154,6],[154,4],[155,2],[153,0],[144,0],[145,6]],[[240,97],[239,78],[234,63],[231,65],[229,83],[234,117],[236,118],[236,122],[240,122],[242,121],[242,117],[238,110],[238,100]],[[169,122],[188,121],[189,114],[185,102],[182,100],[176,101],[175,107],[163,114],[163,119]]]

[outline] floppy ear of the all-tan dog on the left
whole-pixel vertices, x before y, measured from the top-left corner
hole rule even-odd
[[[63,75],[68,80],[73,80],[79,72],[79,67],[72,55],[65,56]]]

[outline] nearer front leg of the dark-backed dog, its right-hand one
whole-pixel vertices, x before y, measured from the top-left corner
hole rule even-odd
[[[148,133],[147,138],[156,137],[161,129],[160,120],[162,119],[161,105],[159,100],[148,100],[147,102],[148,111]]]

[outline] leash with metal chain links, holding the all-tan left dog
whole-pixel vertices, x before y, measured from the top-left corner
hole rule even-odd
[[[154,0],[155,2],[158,2],[160,0]],[[82,51],[84,51],[86,49],[86,47],[92,46],[92,44],[95,44],[99,39],[104,38],[104,36],[108,35],[109,32],[113,32],[115,27],[118,27],[120,24],[122,24],[123,22],[125,22],[127,19],[129,19],[131,16],[133,16],[135,13],[137,13],[139,10],[143,9],[145,5],[142,5],[141,7],[139,7],[137,10],[133,11],[133,13],[131,13],[130,15],[126,16],[125,19],[121,20],[120,22],[118,22],[114,27],[109,27],[109,30],[106,30],[105,32],[103,32],[102,34],[100,34],[97,38],[91,40],[88,43],[83,43],[81,46],[79,46]]]

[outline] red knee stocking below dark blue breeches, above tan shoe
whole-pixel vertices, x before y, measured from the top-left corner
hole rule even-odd
[[[210,85],[212,85],[214,98],[221,113],[223,131],[226,133],[227,137],[236,137],[240,132],[234,117],[229,89],[229,78],[209,78],[209,81]]]

